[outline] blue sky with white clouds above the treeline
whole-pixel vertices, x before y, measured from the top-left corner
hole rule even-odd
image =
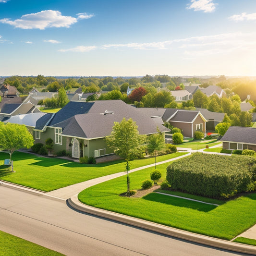
[[[0,0],[0,76],[255,76],[255,28],[255,0]]]

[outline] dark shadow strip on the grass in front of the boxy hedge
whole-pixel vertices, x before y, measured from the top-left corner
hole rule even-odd
[[[217,207],[214,205],[207,205],[207,204],[190,201],[187,199],[172,197],[168,195],[159,195],[157,193],[151,193],[151,194],[145,195],[142,198],[145,200],[149,200],[149,201],[153,201],[161,204],[172,205],[177,207],[185,207],[185,208],[190,208],[190,209],[203,211],[203,212],[209,212],[211,210],[214,210]]]

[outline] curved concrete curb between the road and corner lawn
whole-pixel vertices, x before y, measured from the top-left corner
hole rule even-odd
[[[137,219],[134,217],[126,216],[120,213],[115,213],[103,209],[99,209],[96,207],[91,207],[85,204],[82,204],[78,200],[78,194],[70,197],[67,201],[69,205],[76,210],[86,212],[89,214],[93,214],[99,217],[103,217],[106,219],[116,220],[122,223],[126,223],[135,227],[143,228],[146,230],[174,236],[183,240],[188,240],[191,242],[195,242],[198,244],[206,244],[213,247],[218,247],[221,249],[231,250],[240,253],[246,253],[251,255],[256,255],[256,246],[247,245],[247,244],[237,244],[235,242],[225,241],[218,238],[212,238],[205,235],[200,235],[188,231],[178,230],[175,228],[171,228],[168,226],[164,226],[161,224],[157,224],[154,222],[150,222],[143,219]]]

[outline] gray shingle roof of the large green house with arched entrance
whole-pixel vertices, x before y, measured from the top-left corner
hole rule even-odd
[[[78,104],[80,102],[73,103]],[[159,125],[158,121],[155,122],[152,118],[147,115],[143,115],[141,112],[137,111],[131,105],[127,105],[122,100],[99,100],[95,102],[82,103],[83,109],[87,110],[86,112],[75,114],[69,119],[62,120],[62,122],[58,123],[56,123],[56,120],[54,121],[54,116],[52,119],[53,122],[51,121],[49,126],[61,127],[63,135],[91,139],[110,135],[114,122],[121,122],[123,118],[126,120],[132,118],[133,121],[136,122],[140,134],[156,133],[157,127],[162,132],[170,131],[168,128]],[[80,105],[80,108],[81,106],[82,104]],[[113,111],[113,114],[104,115],[105,110]],[[65,117],[67,117],[67,115],[65,115]]]

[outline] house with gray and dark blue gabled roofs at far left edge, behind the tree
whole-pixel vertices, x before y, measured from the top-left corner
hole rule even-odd
[[[41,112],[31,102],[22,103],[20,97],[2,98],[0,102],[0,121],[4,121],[11,116]]]

